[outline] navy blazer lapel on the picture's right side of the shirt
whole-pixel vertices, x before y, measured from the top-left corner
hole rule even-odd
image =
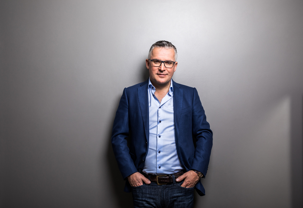
[[[179,121],[182,111],[183,104],[183,89],[181,89],[180,85],[173,81],[174,86],[174,116],[175,116],[175,132],[176,132],[176,142],[178,140],[179,135]]]

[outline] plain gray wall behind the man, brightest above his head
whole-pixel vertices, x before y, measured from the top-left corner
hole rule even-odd
[[[1,207],[131,207],[110,135],[158,40],[214,132],[195,207],[302,207],[303,2],[1,1]]]

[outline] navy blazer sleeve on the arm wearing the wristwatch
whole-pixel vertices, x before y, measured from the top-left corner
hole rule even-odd
[[[198,170],[205,176],[211,154],[213,133],[206,121],[205,112],[196,88],[194,88],[192,109],[192,135],[196,139],[196,148],[191,169]]]

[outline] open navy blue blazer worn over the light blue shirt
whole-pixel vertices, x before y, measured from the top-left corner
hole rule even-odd
[[[206,175],[212,148],[212,131],[206,121],[195,88],[173,82],[175,139],[181,164],[188,171],[195,169]],[[112,147],[122,177],[124,191],[130,192],[127,176],[141,172],[149,145],[148,80],[125,88],[116,112]],[[195,186],[205,195],[201,181]]]

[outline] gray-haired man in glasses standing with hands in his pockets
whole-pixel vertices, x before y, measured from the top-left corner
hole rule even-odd
[[[116,112],[112,146],[135,207],[192,207],[194,187],[205,195],[212,131],[197,90],[171,79],[177,65],[174,45],[153,44],[149,79],[125,88]]]

